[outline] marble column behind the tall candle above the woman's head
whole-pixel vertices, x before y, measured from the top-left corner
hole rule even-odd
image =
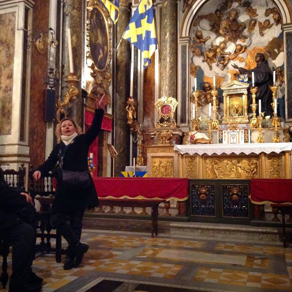
[[[69,56],[68,56],[68,34],[67,28],[71,29],[71,44],[73,55],[73,68],[74,74],[78,79],[82,74],[82,60],[84,46],[82,31],[83,28],[83,11],[84,7],[80,0],[66,0],[63,6],[63,35],[62,35],[62,96],[64,97],[68,90],[68,84],[65,82],[69,74]],[[81,83],[76,83],[75,87],[79,90],[79,94],[75,100],[70,100],[69,104],[65,107],[68,117],[75,120],[75,122],[83,128],[83,98],[81,97]]]

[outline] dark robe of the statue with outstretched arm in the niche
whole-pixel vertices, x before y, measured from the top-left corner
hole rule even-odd
[[[262,62],[260,65],[256,65],[256,67],[252,70],[247,70],[244,68],[238,68],[240,74],[255,74],[255,86],[258,87],[258,91],[255,96],[255,101],[262,100],[261,111],[265,112],[265,116],[273,115],[273,107],[271,103],[273,102],[273,93],[270,90],[269,86],[273,84],[273,74],[272,70],[268,65],[268,61]],[[249,91],[248,93],[248,111],[252,112],[250,104],[252,104],[252,94]],[[259,114],[259,107],[256,109],[257,115]]]

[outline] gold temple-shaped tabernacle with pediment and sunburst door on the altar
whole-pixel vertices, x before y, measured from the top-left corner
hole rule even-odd
[[[239,124],[249,122],[247,112],[247,89],[249,84],[231,81],[221,86],[224,99],[224,117],[222,124],[230,124],[231,119],[238,118]]]

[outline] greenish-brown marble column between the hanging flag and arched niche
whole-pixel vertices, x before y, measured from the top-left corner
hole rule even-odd
[[[165,96],[176,98],[176,25],[176,1],[164,0],[162,3],[160,32],[159,97]]]

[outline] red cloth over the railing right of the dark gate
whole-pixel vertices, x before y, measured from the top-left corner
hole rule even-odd
[[[249,197],[257,205],[292,203],[292,179],[251,179]]]

